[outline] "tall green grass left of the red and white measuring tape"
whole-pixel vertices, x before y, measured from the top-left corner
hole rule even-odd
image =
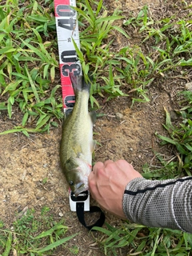
[[[22,2],[0,6],[0,110],[12,118],[13,108],[19,108],[22,122],[10,132],[29,136],[58,126],[62,103],[54,82],[58,51],[53,2],[46,1],[46,9],[37,1]]]

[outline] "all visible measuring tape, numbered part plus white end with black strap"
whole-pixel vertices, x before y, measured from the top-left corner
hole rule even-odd
[[[62,86],[62,103],[64,113],[74,107],[75,96],[72,83],[70,81],[70,73],[74,75],[82,74],[82,66],[78,60],[74,42],[80,49],[79,32],[78,32],[78,18],[77,12],[71,8],[76,6],[75,0],[54,0],[54,14],[58,35],[58,54],[59,67],[61,74]],[[91,230],[93,226],[102,226],[105,222],[105,215],[97,206],[90,207],[90,192],[87,190],[75,197],[70,191],[70,210],[76,211],[79,222],[86,226],[84,219],[84,211],[100,212],[100,218],[91,226],[86,226]]]

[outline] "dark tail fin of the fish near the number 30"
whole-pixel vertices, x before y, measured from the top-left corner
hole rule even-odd
[[[90,83],[86,83],[82,75],[74,75],[70,73],[70,81],[74,88],[74,93],[82,90],[86,90],[90,93]]]

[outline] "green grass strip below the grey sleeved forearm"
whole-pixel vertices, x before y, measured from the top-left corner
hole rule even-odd
[[[192,234],[178,230],[146,228],[142,225],[123,222],[121,228],[114,228],[106,223],[107,229],[95,227],[105,234],[98,242],[103,246],[105,255],[119,255],[117,249],[125,247],[128,255],[162,256],[190,255]]]

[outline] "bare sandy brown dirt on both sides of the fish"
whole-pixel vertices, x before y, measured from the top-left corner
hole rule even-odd
[[[146,3],[150,11],[161,5],[157,0],[104,1],[110,10],[119,6],[120,10],[134,10],[136,13]],[[178,83],[177,90],[182,90],[183,86]],[[167,85],[166,90],[163,90],[156,81],[149,91],[150,103],[135,104],[131,109],[129,97],[101,102],[99,112],[106,115],[98,118],[94,127],[94,138],[101,144],[95,151],[95,161],[126,159],[142,172],[145,163],[155,164],[154,151],[171,156],[169,147],[160,147],[154,133],[165,133],[162,128],[165,122],[163,107],[172,110],[176,104],[172,98],[175,94],[174,84]],[[6,114],[0,115],[0,131],[11,129],[18,123],[21,117],[18,110],[14,111],[14,120],[11,121]],[[118,113],[122,115],[119,117]],[[66,220],[71,234],[80,232],[70,242],[78,246],[78,255],[101,256],[104,254],[93,236],[81,226],[76,214],[70,212],[68,186],[59,167],[61,128],[51,130],[50,134],[31,134],[30,138],[22,134],[0,137],[0,218],[9,227],[15,213],[27,208],[38,211],[42,206],[49,206],[54,218]],[[46,182],[43,182],[45,179]],[[106,222],[117,226],[121,220],[106,213]],[[59,251],[58,255],[73,254],[66,250]]]

